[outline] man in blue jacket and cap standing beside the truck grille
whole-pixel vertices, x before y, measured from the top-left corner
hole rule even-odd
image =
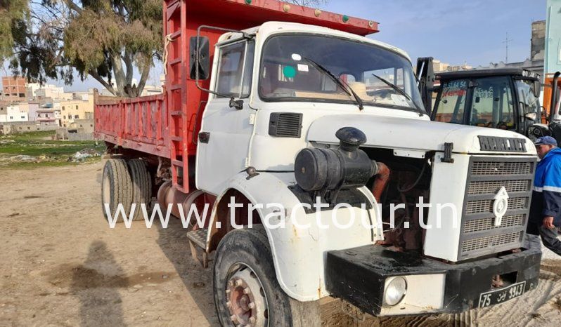
[[[546,248],[561,255],[557,227],[561,226],[561,149],[550,136],[536,140],[541,161],[536,166],[528,234],[539,234]]]

